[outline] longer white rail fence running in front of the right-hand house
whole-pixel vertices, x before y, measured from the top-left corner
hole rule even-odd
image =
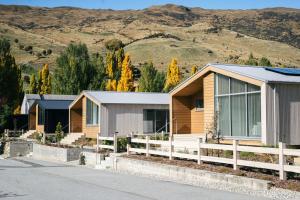
[[[146,136],[146,139],[135,139],[131,140],[131,143],[144,144],[145,148],[132,148],[131,145],[127,145],[127,153],[141,153],[149,155],[159,155],[169,157],[170,160],[173,158],[183,158],[198,161],[198,164],[202,164],[203,161],[214,162],[214,163],[223,163],[230,164],[233,166],[234,170],[237,170],[239,166],[254,167],[261,169],[270,169],[279,171],[280,179],[286,179],[286,172],[295,172],[300,173],[300,166],[288,165],[286,163],[286,156],[295,156],[300,157],[300,150],[297,149],[287,149],[286,145],[279,143],[279,148],[269,148],[269,147],[254,147],[254,146],[241,146],[238,144],[238,140],[233,140],[232,145],[226,144],[208,144],[203,143],[202,138],[198,138],[194,142],[180,142],[174,141],[172,137],[169,138],[169,141],[162,140],[151,140],[149,136]],[[151,147],[155,145],[156,147]],[[157,148],[157,146],[159,146]],[[180,151],[174,149],[178,148],[187,148],[196,150],[196,154]],[[228,150],[233,152],[232,159],[224,157],[214,157],[206,156],[201,154],[203,149],[213,149],[213,150]],[[265,163],[258,161],[248,161],[239,159],[239,152],[252,152],[260,154],[272,154],[278,155],[278,163]]]

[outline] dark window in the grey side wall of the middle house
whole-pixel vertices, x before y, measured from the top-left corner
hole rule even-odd
[[[168,110],[144,110],[144,133],[168,132],[169,111]]]

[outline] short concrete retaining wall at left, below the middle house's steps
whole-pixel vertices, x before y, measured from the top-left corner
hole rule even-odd
[[[59,148],[40,144],[33,144],[32,157],[35,159],[68,162],[78,160],[82,149]]]

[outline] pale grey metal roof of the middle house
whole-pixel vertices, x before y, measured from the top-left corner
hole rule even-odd
[[[84,91],[84,94],[109,104],[169,104],[169,94],[151,92]]]

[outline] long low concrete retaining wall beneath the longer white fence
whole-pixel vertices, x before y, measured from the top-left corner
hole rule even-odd
[[[269,189],[270,187],[269,181],[122,157],[117,158],[115,170],[185,182],[192,185],[200,185],[199,183],[203,181],[212,181],[260,190]]]

